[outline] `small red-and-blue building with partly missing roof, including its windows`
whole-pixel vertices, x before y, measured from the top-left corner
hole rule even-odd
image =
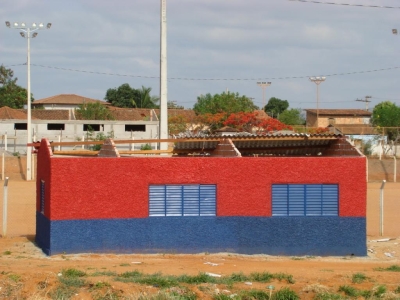
[[[343,136],[174,144],[172,157],[57,157],[43,139],[37,245],[48,255],[367,254],[366,158]]]

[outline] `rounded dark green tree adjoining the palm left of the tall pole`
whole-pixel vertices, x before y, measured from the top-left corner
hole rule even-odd
[[[117,107],[136,107],[141,103],[139,90],[131,88],[128,83],[124,83],[115,89],[108,89],[104,97],[108,103]]]

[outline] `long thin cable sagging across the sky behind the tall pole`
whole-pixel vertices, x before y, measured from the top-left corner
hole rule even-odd
[[[25,64],[17,64],[11,66],[22,66]],[[129,74],[118,74],[118,73],[107,73],[107,72],[96,72],[96,71],[87,71],[87,70],[78,70],[78,69],[70,69],[70,68],[61,68],[61,67],[53,67],[53,66],[45,66],[45,65],[37,65],[31,64],[31,66],[48,68],[48,69],[56,69],[62,71],[70,71],[70,72],[79,72],[79,73],[88,73],[88,74],[96,74],[96,75],[107,75],[107,76],[120,76],[120,77],[131,77],[131,78],[146,78],[146,79],[159,79],[159,76],[145,76],[145,75],[129,75]],[[342,72],[342,73],[332,73],[326,74],[325,77],[334,77],[334,76],[346,76],[346,75],[355,75],[355,74],[365,74],[365,73],[374,73],[374,72],[382,72],[382,71],[390,71],[397,70],[400,67],[391,67],[391,68],[381,68],[374,70],[366,70],[366,71],[353,71],[353,72]],[[282,76],[282,77],[267,77],[267,78],[190,78],[190,77],[168,77],[168,80],[186,80],[186,81],[257,81],[257,80],[287,80],[287,79],[303,79],[310,78],[310,75],[304,76]]]

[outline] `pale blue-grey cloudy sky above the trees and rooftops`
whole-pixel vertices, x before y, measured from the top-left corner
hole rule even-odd
[[[400,105],[399,0],[166,2],[168,101],[193,108],[200,95],[229,91],[259,107],[271,97],[301,109]],[[27,40],[5,21],[50,22],[30,39],[35,100],[103,100],[124,83],[159,96],[160,8],[160,0],[2,0],[0,64],[26,88]],[[326,80],[317,86],[311,76]],[[260,81],[271,82],[265,97]]]

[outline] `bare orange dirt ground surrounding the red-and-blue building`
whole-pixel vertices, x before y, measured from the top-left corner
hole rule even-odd
[[[0,184],[3,185],[3,182]],[[145,274],[162,273],[163,275],[198,275],[208,272],[221,275],[221,278],[239,273],[250,275],[254,272],[269,272],[289,274],[294,279],[294,283],[273,279],[268,283],[243,281],[234,285],[221,283],[186,285],[197,299],[217,299],[215,298],[217,294],[229,297],[241,290],[267,291],[269,285],[274,286],[274,291],[285,287],[290,288],[300,296],[300,299],[315,299],[316,294],[321,291],[344,295],[343,292],[338,292],[343,286],[369,291],[385,286],[387,289],[385,299],[400,299],[400,272],[398,271],[400,269],[400,223],[398,221],[400,184],[387,183],[385,186],[383,235],[380,235],[379,222],[380,187],[381,182],[368,184],[368,256],[366,257],[280,257],[232,253],[63,254],[48,257],[33,242],[35,183],[10,180],[7,237],[0,238],[0,299],[68,299],[69,297],[59,296],[60,294],[57,293],[62,277],[60,275],[70,268],[87,274],[85,276],[87,285],[76,288],[71,299],[155,299],[151,298],[151,295],[162,290],[162,287],[157,284],[134,284],[115,279],[116,274],[135,270]],[[1,210],[0,213],[2,213]],[[395,268],[397,272],[386,269],[391,266],[398,267],[398,269]],[[366,279],[362,283],[352,282],[353,275],[357,273],[365,275]],[[170,288],[169,291],[183,293],[181,289],[182,287]]]

